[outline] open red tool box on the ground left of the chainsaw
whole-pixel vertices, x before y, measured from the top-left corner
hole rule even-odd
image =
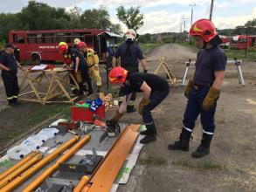
[[[92,112],[89,108],[72,106],[72,120],[75,121],[86,121],[93,122],[95,119],[104,120],[105,115],[105,106],[100,106],[95,112]]]

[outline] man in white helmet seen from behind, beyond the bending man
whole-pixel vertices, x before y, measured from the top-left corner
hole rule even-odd
[[[117,64],[117,58],[121,58],[121,67],[125,68],[129,74],[134,72],[139,72],[139,61],[142,64],[144,72],[147,71],[146,60],[143,56],[142,49],[139,45],[135,44],[136,32],[133,29],[129,29],[125,33],[126,41],[121,44],[117,50],[114,52],[114,57],[112,61],[113,67]],[[123,100],[125,95],[123,87],[119,91],[119,104]],[[136,94],[133,93],[131,99],[128,102],[127,113],[135,112],[135,99]]]

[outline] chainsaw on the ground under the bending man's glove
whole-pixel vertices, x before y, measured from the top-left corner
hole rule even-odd
[[[111,120],[107,120],[105,128],[106,131],[104,134],[101,135],[100,142],[104,141],[107,136],[115,137],[121,133],[119,124]]]

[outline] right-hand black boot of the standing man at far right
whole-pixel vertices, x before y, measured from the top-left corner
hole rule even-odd
[[[197,150],[191,154],[194,158],[201,158],[204,155],[210,154],[210,144],[213,134],[203,134],[201,144]]]

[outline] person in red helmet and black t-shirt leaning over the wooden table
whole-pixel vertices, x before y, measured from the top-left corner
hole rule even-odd
[[[63,55],[70,55],[72,60],[72,67],[75,74],[75,79],[77,80],[80,91],[79,95],[83,95],[83,82],[86,81],[89,88],[89,93],[93,93],[93,86],[92,81],[89,79],[89,73],[88,69],[86,67],[86,61],[83,57],[83,55],[75,48],[68,47],[68,45],[65,42],[59,43],[59,52],[61,52]]]

